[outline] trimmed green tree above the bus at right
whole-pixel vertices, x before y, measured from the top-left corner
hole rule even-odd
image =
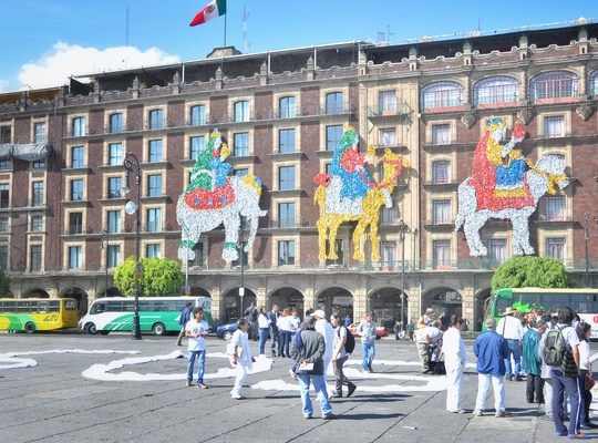
[[[492,277],[492,290],[502,288],[567,288],[563,264],[551,257],[514,257],[502,264]]]

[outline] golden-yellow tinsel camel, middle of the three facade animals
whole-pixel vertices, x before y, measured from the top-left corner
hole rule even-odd
[[[334,260],[338,258],[334,250],[337,233],[340,225],[347,222],[358,222],[353,233],[353,258],[363,260],[363,246],[361,239],[365,234],[365,229],[370,228],[370,238],[372,240],[372,261],[380,260],[380,244],[378,240],[378,225],[380,223],[380,212],[382,206],[392,207],[392,202],[388,198],[394,190],[396,179],[403,167],[409,167],[406,158],[402,158],[399,154],[394,154],[390,150],[384,151],[382,156],[384,168],[383,179],[380,184],[371,183],[367,196],[362,200],[362,214],[340,214],[331,212],[327,208],[327,192],[328,186],[323,181],[316,189],[313,200],[320,207],[320,217],[316,226],[318,227],[318,250],[319,258]],[[328,241],[327,241],[328,239]],[[327,250],[328,249],[328,250]]]

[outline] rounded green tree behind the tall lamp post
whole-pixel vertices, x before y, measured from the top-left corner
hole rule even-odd
[[[140,292],[146,297],[177,295],[185,277],[178,261],[169,258],[141,258],[143,277],[140,280]],[[125,297],[135,295],[135,257],[131,256],[114,271],[114,284]]]

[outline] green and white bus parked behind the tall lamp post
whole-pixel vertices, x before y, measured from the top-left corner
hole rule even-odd
[[[204,320],[212,326],[212,299],[209,297],[140,297],[140,327],[142,332],[165,336],[181,331],[181,311],[192,302],[204,308]],[[132,297],[99,298],[79,321],[79,327],[91,334],[112,331],[131,331],[135,299]]]

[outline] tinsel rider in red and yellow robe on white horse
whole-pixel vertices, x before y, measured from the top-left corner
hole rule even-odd
[[[522,151],[514,148],[525,138],[525,130],[520,122],[515,123],[513,137],[502,145],[505,133],[503,119],[488,120],[486,133],[475,148],[471,184],[476,192],[477,209],[519,209],[534,204],[525,183],[527,162]]]

